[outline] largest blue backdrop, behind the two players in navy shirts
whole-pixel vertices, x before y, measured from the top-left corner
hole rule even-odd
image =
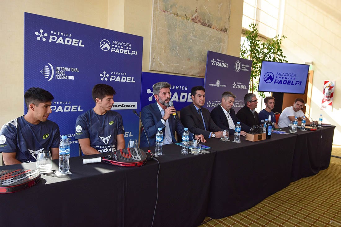
[[[68,136],[71,156],[78,155],[76,118],[95,106],[96,84],[115,89],[112,109],[122,115],[126,144],[138,139],[132,109],[140,109],[142,48],[141,36],[25,13],[24,89],[41,87],[53,94],[48,119]]]

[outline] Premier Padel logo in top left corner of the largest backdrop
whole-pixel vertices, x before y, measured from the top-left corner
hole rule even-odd
[[[49,31],[48,33],[49,35],[44,32],[43,29],[40,29],[39,32],[34,32],[38,41],[48,41],[50,43],[84,47],[83,41],[79,39],[73,39],[72,34],[70,33],[53,30]]]

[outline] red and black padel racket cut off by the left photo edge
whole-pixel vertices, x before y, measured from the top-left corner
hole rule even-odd
[[[31,187],[40,181],[40,172],[30,169],[0,170],[0,193],[12,193]]]

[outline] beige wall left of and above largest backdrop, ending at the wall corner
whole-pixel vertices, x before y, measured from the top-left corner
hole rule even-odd
[[[24,12],[107,28],[107,0],[0,0],[0,125],[24,113]]]

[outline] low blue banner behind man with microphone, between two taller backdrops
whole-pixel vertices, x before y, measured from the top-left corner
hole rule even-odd
[[[192,103],[192,87],[204,85],[203,78],[142,72],[141,109],[155,102],[153,85],[161,81],[168,82],[172,86],[170,88],[170,92],[172,93],[170,100],[173,101],[176,110],[181,110],[183,107]]]

